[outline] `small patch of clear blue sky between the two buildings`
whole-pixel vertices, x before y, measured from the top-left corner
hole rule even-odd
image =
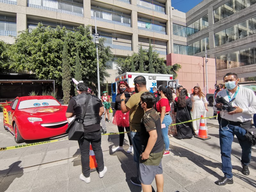
[[[182,12],[188,12],[203,0],[171,0],[172,7]]]

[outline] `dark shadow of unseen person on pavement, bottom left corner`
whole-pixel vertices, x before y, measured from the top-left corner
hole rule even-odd
[[[23,168],[21,167],[20,163],[21,161],[17,161],[11,164],[8,169],[0,170],[0,180],[2,179],[1,177],[4,177],[0,182],[0,191],[6,191],[16,178],[20,178],[23,175]],[[8,175],[12,169],[19,173]]]

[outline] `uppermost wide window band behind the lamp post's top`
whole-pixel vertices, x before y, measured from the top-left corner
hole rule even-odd
[[[96,12],[96,20],[131,27],[131,16],[127,13],[93,5],[91,7],[92,19],[94,19],[94,11]]]

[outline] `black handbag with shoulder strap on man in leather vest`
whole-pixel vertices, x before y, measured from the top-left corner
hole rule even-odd
[[[79,140],[84,136],[84,116],[86,113],[86,109],[88,107],[88,103],[91,95],[88,94],[88,97],[85,101],[84,111],[81,117],[76,117],[73,121],[68,125],[68,129],[66,132],[68,133],[68,140]]]

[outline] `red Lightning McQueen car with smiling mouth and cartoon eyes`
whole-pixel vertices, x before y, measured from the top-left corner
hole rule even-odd
[[[66,111],[52,96],[17,97],[4,107],[4,129],[16,143],[61,135],[68,127]]]

